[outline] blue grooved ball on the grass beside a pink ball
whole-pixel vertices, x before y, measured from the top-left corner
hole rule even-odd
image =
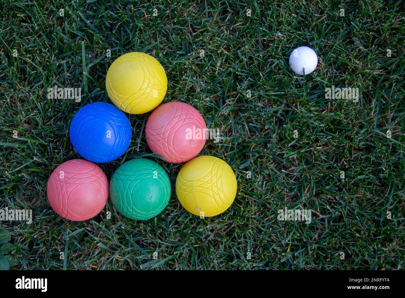
[[[109,103],[90,103],[77,111],[69,128],[76,152],[95,163],[108,163],[128,149],[132,130],[124,112]]]

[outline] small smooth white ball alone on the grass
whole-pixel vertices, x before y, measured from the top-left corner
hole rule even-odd
[[[290,55],[291,69],[298,75],[310,74],[318,65],[318,56],[310,47],[297,47]]]

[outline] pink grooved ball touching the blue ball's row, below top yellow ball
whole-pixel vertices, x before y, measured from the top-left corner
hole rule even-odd
[[[207,135],[203,116],[187,103],[173,101],[156,108],[146,122],[146,141],[164,161],[183,163],[203,149]]]

